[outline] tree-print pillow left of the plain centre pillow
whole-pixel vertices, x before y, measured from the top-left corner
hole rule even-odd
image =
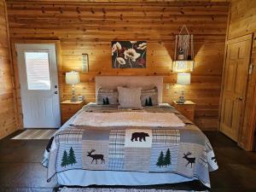
[[[97,92],[97,101],[98,105],[117,105],[118,101],[118,91],[108,88],[100,88]]]

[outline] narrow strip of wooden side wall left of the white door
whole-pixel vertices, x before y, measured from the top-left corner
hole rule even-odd
[[[6,5],[0,0],[0,139],[16,130]]]

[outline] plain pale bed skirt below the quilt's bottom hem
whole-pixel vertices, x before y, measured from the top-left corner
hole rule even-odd
[[[96,185],[154,185],[182,183],[196,178],[187,178],[174,173],[113,172],[68,170],[57,173],[58,183],[66,186]]]

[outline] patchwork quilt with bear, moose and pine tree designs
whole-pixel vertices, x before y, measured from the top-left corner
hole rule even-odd
[[[129,110],[89,104],[79,113]],[[48,166],[48,179],[56,172],[72,169],[172,172],[197,178],[210,187],[209,172],[218,169],[218,165],[207,137],[171,106],[144,108],[143,112],[175,113],[185,126],[78,126],[73,125],[73,117],[51,140],[49,156],[44,160],[44,165]]]

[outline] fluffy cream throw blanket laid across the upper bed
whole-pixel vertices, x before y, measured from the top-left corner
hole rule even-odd
[[[83,111],[73,120],[73,125],[177,127],[184,126],[184,123],[175,113],[91,113]]]

